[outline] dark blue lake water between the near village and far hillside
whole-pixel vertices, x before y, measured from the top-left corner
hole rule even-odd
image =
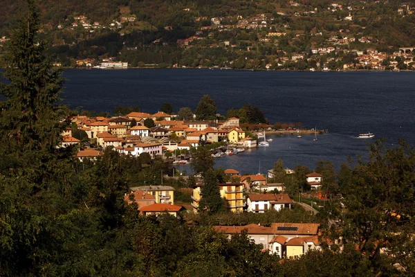
[[[195,109],[210,94],[218,112],[251,103],[270,123],[303,123],[329,129],[318,136],[267,136],[268,148],[215,159],[216,167],[265,173],[277,159],[293,168],[328,160],[339,168],[348,157],[367,157],[368,143],[361,132],[385,138],[393,147],[405,139],[415,147],[413,72],[282,72],[208,69],[67,70],[63,102],[71,108],[112,113],[117,105],[138,106],[155,113],[163,102]],[[179,169],[189,170],[188,166]]]

